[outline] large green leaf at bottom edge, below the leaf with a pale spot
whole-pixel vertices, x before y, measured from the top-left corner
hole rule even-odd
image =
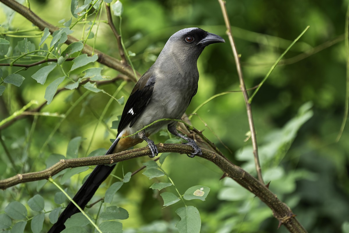
[[[180,221],[176,223],[180,233],[199,233],[201,229],[201,219],[199,210],[194,206],[180,207],[176,210]]]

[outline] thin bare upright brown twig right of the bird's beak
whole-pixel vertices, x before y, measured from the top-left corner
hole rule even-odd
[[[228,17],[228,13],[227,13],[227,8],[225,7],[225,1],[224,0],[218,0],[218,2],[220,3],[221,8],[222,8],[222,13],[223,13],[225,25],[227,26],[227,35],[229,37],[231,48],[232,48],[232,51],[233,51],[233,54],[234,54],[234,57],[235,57],[236,68],[237,68],[239,81],[240,81],[240,88],[241,88],[241,90],[242,90],[242,92],[244,94],[244,99],[245,99],[246,109],[247,109],[248,124],[250,125],[250,131],[251,131],[251,140],[252,140],[252,147],[253,147],[254,162],[256,164],[258,180],[260,182],[264,183],[263,182],[263,178],[262,178],[262,170],[261,170],[259,157],[258,157],[257,138],[256,138],[256,132],[255,132],[255,129],[254,129],[252,109],[251,109],[251,104],[248,102],[249,97],[248,97],[248,93],[247,93],[247,90],[246,90],[244,77],[243,77],[243,74],[242,74],[239,54],[237,52],[237,49],[236,49],[236,46],[235,46],[235,42],[234,42],[234,39],[233,39],[233,36],[232,36],[232,33],[231,33],[231,27],[230,27],[229,17]]]

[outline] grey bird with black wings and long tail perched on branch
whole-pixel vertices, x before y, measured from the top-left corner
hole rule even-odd
[[[195,141],[177,132],[177,121],[160,121],[131,137],[126,136],[158,119],[180,119],[198,90],[197,60],[201,52],[206,46],[220,42],[225,42],[222,37],[200,28],[185,28],[174,33],[155,63],[134,86],[122,111],[116,140],[105,154],[125,151],[144,140],[151,151],[149,157],[153,158],[158,150],[154,141],[148,137],[167,125],[171,134],[186,140],[185,144],[192,146],[193,153],[188,156],[193,158],[195,154],[200,155],[201,149]],[[92,171],[73,198],[82,209],[114,167],[115,165],[98,165]],[[78,212],[79,209],[70,202],[49,233],[64,230],[65,221]]]

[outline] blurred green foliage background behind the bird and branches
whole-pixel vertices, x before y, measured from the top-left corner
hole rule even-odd
[[[62,22],[72,17],[69,0],[29,2],[33,12],[54,25],[62,27]],[[180,29],[199,27],[218,34],[227,41],[224,44],[210,45],[200,56],[199,89],[187,114],[215,94],[239,90],[236,66],[225,35],[226,28],[218,1],[125,0],[122,3],[123,41],[127,51],[136,54],[131,59],[135,69],[141,74],[154,63],[167,39]],[[80,2],[79,6],[82,4]],[[262,172],[265,181],[271,181],[270,190],[291,207],[308,232],[349,232],[348,126],[339,142],[336,142],[346,97],[348,51],[344,44],[344,29],[348,1],[232,0],[227,1],[226,5],[237,50],[241,54],[247,88],[258,85],[281,53],[306,26],[310,26],[274,69],[252,102]],[[106,20],[104,6],[102,9],[101,19]],[[27,37],[38,49],[42,34],[39,31],[29,31],[15,34],[23,37],[6,35],[9,30],[34,27],[23,16],[11,14],[2,4],[1,11],[0,37],[14,46],[23,37]],[[94,15],[88,17],[88,20],[93,17]],[[61,21],[62,19],[65,20]],[[119,18],[114,16],[113,19],[118,29]],[[73,18],[73,22],[74,20],[76,19]],[[73,30],[72,35],[81,39],[83,25],[77,24]],[[102,22],[98,31],[96,26],[92,31],[95,32],[96,40],[91,38],[87,43],[95,43],[96,49],[119,59],[116,39],[109,26]],[[51,39],[49,37],[46,43]],[[10,62],[2,58],[3,56],[0,57],[0,63]],[[64,67],[68,71],[71,65],[72,62],[66,62]],[[31,75],[41,67],[21,71],[19,74],[25,78],[21,87],[6,84],[6,90],[0,97],[0,120],[12,115],[31,100],[37,100],[38,103],[45,100],[47,85],[61,77],[62,73],[56,68],[50,73],[45,85],[40,85]],[[70,77],[76,80],[87,67],[102,67],[102,74],[109,78],[118,75],[117,71],[96,62],[75,70]],[[18,67],[0,68],[3,78],[19,70]],[[65,80],[61,86],[68,83]],[[121,81],[117,81],[101,88],[113,94],[120,83]],[[117,99],[121,96],[127,98],[133,86],[133,82],[128,82]],[[61,92],[42,112],[66,114],[86,91],[79,88]],[[108,95],[101,92],[90,93],[63,121],[58,117],[29,116],[2,129],[4,144],[0,147],[0,178],[15,175],[15,170],[25,173],[44,169],[45,161],[51,154],[66,154],[67,145],[74,137],[86,139],[81,143],[80,157],[87,156],[98,148],[108,148],[109,139],[114,138],[114,135],[106,127],[117,120],[123,106],[113,101],[103,118],[106,126],[98,124],[96,132],[94,128],[98,123],[95,115],[101,116],[109,99]],[[242,93],[231,93],[213,99],[200,108],[191,120],[195,128],[205,130],[205,136],[225,156],[255,175],[251,140],[245,140],[249,127]],[[43,147],[58,124],[57,132],[48,145]],[[164,142],[168,136],[161,133],[152,139]],[[15,169],[8,155],[14,161]],[[148,160],[144,157],[122,162],[115,174],[122,176],[121,167],[125,173],[133,172]],[[225,178],[219,181],[222,172],[212,163],[197,157],[189,159],[185,155],[173,154],[166,158],[163,168],[181,193],[193,185],[211,188],[205,202],[187,202],[187,205],[194,205],[200,211],[202,233],[287,232],[283,226],[277,230],[278,221],[258,198],[254,198],[232,180]],[[70,195],[75,194],[83,177],[90,171],[91,169],[72,176],[64,184]],[[158,180],[168,182],[165,177]],[[115,181],[117,180],[110,179],[109,183]],[[155,181],[139,173],[117,192],[113,204],[129,212],[129,218],[121,221],[124,232],[178,232],[174,228],[175,222],[179,220],[175,210],[183,204],[178,202],[163,209],[159,192],[149,189]],[[59,191],[54,185],[47,183],[39,191],[36,189],[37,182],[31,182],[1,190],[0,214],[9,202],[17,200],[25,204],[37,193],[45,198],[45,211],[59,206],[53,201],[54,194]],[[174,189],[170,187],[166,191]],[[105,189],[99,189],[93,201],[103,196],[104,192]],[[96,213],[98,206],[89,211]],[[30,212],[29,216],[35,214],[37,213]],[[50,225],[46,214],[43,232]],[[30,232],[29,224],[25,232]]]

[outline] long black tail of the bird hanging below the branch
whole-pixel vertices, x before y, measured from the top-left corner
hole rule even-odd
[[[109,150],[105,154],[112,154],[114,151],[114,148],[116,144],[118,143],[119,138],[117,138]],[[93,195],[95,195],[95,192],[97,191],[99,185],[107,179],[107,177],[112,172],[113,166],[107,166],[107,165],[98,165],[90,174],[90,176],[87,178],[85,183],[81,186],[79,191],[77,191],[76,195],[74,196],[73,200],[76,204],[78,204],[81,209],[84,209],[84,207],[87,205],[87,203],[91,200]],[[70,202],[68,206],[65,208],[65,210],[61,213],[59,216],[57,223],[53,224],[50,231],[48,233],[59,233],[65,229],[65,221],[70,218],[73,214],[79,213],[80,210],[77,209],[77,207]]]

